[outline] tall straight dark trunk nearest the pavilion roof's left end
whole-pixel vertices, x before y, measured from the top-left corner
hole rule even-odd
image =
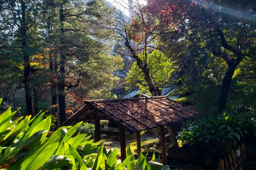
[[[61,22],[60,32],[62,35],[64,34],[63,21],[64,21],[64,15],[63,15],[63,4],[62,4],[60,7],[60,22]],[[65,54],[64,54],[64,41],[62,40],[62,38],[60,40],[60,74],[58,76],[58,97],[59,97],[59,108],[60,108],[60,124],[62,124],[66,121]]]

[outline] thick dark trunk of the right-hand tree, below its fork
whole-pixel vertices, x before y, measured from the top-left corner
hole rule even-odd
[[[230,88],[230,84],[232,81],[232,77],[240,62],[230,62],[228,63],[228,69],[226,70],[224,79],[222,81],[222,86],[220,89],[220,98],[218,104],[218,112],[222,112],[226,110],[227,98],[228,98],[228,90]]]

